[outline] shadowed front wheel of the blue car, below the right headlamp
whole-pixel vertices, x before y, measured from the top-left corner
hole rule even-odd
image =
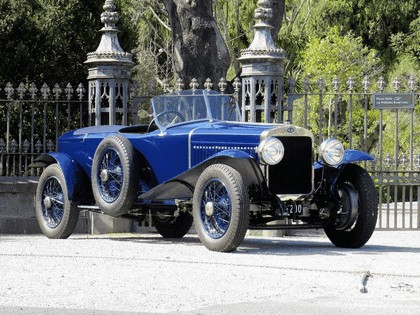
[[[325,233],[337,247],[359,248],[372,236],[378,217],[378,197],[369,174],[358,165],[348,165],[340,174],[337,189],[342,195],[343,213],[355,207],[356,217],[346,223],[348,216],[333,216]],[[350,215],[350,214],[349,214]]]

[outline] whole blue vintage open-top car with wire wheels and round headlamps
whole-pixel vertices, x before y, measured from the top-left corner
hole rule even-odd
[[[154,97],[147,125],[97,126],[60,137],[45,167],[36,217],[67,238],[79,211],[144,220],[183,237],[193,222],[210,250],[233,251],[248,229],[324,229],[340,247],[371,237],[378,201],[357,163],[366,153],[292,124],[241,122],[234,98],[205,90]]]

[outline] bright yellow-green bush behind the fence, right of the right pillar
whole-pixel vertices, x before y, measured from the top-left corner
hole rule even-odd
[[[319,96],[308,99],[308,125],[315,135],[320,138],[335,136],[347,147],[372,149],[378,136],[378,112],[368,113],[370,124],[367,137],[364,138],[364,96],[350,100],[345,92],[348,91],[347,81],[350,77],[357,83],[354,88],[360,89],[363,77],[377,75],[380,60],[375,56],[376,52],[364,47],[360,37],[355,37],[351,32],[342,36],[337,27],[330,28],[321,38],[314,35],[309,38],[299,56],[302,72],[312,78],[313,90],[323,93],[331,91],[323,96],[322,103]],[[319,86],[319,77],[324,80],[322,88]],[[333,81],[336,82],[335,86]],[[298,119],[304,116],[304,109],[300,106],[303,103],[297,102],[294,115]],[[339,126],[337,129],[333,127],[335,123]],[[353,135],[352,139],[350,134]]]

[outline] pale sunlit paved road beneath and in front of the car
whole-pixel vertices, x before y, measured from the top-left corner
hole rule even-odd
[[[359,250],[323,236],[247,237],[228,254],[208,251],[195,235],[0,236],[0,314],[419,310],[420,231],[375,232]]]

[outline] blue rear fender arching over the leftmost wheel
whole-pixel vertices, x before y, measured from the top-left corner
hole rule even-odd
[[[40,168],[55,163],[60,166],[66,179],[69,200],[77,200],[80,194],[85,193],[87,177],[80,165],[70,156],[59,152],[45,153],[37,157],[30,167]]]

